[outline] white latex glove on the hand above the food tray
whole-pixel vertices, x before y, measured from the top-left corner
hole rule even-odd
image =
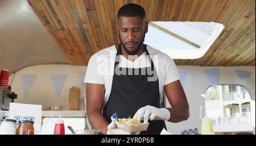
[[[156,108],[154,106],[144,106],[139,109],[135,115],[133,116],[134,119],[139,121],[144,119],[144,122],[147,122],[148,119],[154,120],[168,120],[170,119],[170,111],[165,108]]]

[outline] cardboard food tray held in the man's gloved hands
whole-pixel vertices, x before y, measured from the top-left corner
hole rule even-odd
[[[121,130],[124,130],[129,133],[134,133],[134,132],[146,131],[149,123],[147,122],[147,123],[140,124],[139,126],[127,126],[127,127],[121,127],[117,123],[115,123],[115,125],[117,126],[117,128]]]

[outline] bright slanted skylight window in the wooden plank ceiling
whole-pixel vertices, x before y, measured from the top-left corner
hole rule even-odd
[[[198,59],[223,29],[214,22],[150,22],[144,42],[172,59]]]

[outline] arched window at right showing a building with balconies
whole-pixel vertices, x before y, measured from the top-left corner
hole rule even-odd
[[[237,125],[251,125],[250,94],[245,87],[217,85],[214,89],[210,86],[202,96],[205,98],[205,111],[214,126],[236,128]]]

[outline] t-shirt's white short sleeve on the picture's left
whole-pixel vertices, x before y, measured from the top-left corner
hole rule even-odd
[[[102,77],[102,74],[98,73],[97,71],[98,64],[97,64],[97,55],[94,54],[92,57],[90,57],[90,60],[88,62],[87,70],[85,73],[84,82],[85,83],[92,83],[92,84],[105,84],[104,78]]]

